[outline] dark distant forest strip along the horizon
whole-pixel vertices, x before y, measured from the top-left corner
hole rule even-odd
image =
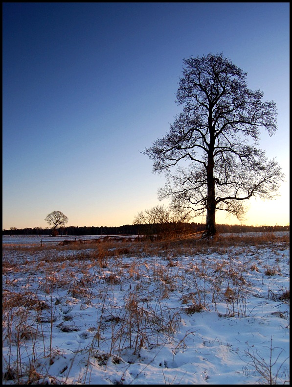
[[[217,224],[218,233],[246,233],[257,231],[290,231],[290,226],[245,226],[241,224],[229,225],[229,224]],[[168,228],[168,230],[171,227]],[[182,223],[180,224],[180,232],[183,233],[196,233],[204,231],[205,224],[203,223]],[[150,231],[151,230],[151,231]],[[157,234],[161,232],[161,225],[159,224],[125,224],[118,227],[107,226],[83,226],[83,227],[60,227],[58,228],[59,236],[66,235],[149,235]],[[51,228],[22,228],[11,227],[9,230],[2,230],[2,235],[51,235]]]

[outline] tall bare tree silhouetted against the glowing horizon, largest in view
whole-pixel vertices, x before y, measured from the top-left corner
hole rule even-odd
[[[216,231],[216,210],[244,218],[246,199],[271,199],[284,175],[258,148],[261,128],[277,130],[274,101],[247,88],[247,73],[223,54],[184,59],[177,92],[183,105],[170,130],[143,153],[167,183],[159,199],[206,215],[204,237]]]

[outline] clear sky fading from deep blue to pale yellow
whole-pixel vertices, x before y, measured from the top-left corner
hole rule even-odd
[[[164,178],[141,153],[163,137],[183,58],[223,53],[278,106],[260,147],[286,174],[247,225],[289,224],[289,11],[284,2],[2,3],[3,224],[132,224]],[[219,212],[217,223],[238,224]],[[205,219],[195,218],[204,222]]]

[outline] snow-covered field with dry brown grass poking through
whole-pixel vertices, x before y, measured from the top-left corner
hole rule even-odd
[[[289,232],[64,239],[3,236],[4,385],[289,384]]]

